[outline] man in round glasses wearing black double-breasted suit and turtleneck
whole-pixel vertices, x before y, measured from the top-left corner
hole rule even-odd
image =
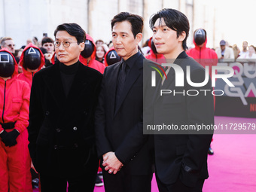
[[[59,62],[36,73],[29,111],[29,151],[41,191],[93,191],[96,155],[94,111],[102,75],[78,61],[85,32],[76,23],[57,26]]]

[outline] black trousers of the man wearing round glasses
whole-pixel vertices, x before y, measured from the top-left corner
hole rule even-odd
[[[96,172],[90,175],[81,175],[75,178],[59,178],[40,174],[41,192],[66,192],[67,182],[69,192],[93,192],[96,180]]]

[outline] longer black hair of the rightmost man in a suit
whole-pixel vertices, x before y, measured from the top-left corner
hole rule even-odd
[[[156,23],[157,19],[161,18],[163,18],[164,22],[166,23],[166,26],[177,32],[177,38],[179,35],[181,35],[181,32],[186,32],[186,37],[182,41],[182,47],[184,50],[186,50],[186,41],[189,34],[189,22],[187,20],[187,17],[184,14],[182,14],[181,11],[177,11],[175,9],[170,8],[164,8],[151,17],[151,20],[149,21],[151,29],[153,29],[154,23]]]

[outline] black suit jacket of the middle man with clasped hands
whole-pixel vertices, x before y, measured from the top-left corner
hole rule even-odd
[[[151,173],[148,136],[143,135],[143,59],[141,53],[126,75],[123,92],[114,110],[121,62],[105,69],[96,108],[96,145],[99,157],[114,151],[131,175]]]

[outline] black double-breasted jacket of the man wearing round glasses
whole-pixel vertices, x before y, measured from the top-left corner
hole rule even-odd
[[[78,63],[66,97],[59,63],[33,78],[29,112],[29,151],[39,173],[77,176],[96,159],[94,111],[102,75]],[[94,149],[93,149],[94,148]]]

